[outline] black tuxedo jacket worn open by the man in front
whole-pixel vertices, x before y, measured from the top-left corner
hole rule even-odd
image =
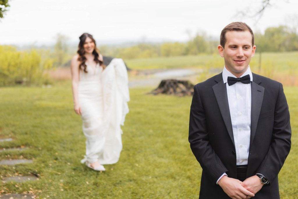
[[[251,133],[246,178],[263,174],[269,185],[254,198],[280,198],[277,175],[291,148],[291,126],[283,86],[253,73]],[[229,198],[216,184],[226,172],[236,178],[236,153],[226,84],[222,73],[194,87],[190,147],[202,167],[200,198]]]

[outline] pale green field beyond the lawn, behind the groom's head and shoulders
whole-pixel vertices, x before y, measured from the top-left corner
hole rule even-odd
[[[224,67],[224,58],[215,53],[213,55],[128,59],[125,63],[134,70],[201,69],[197,80],[193,82],[197,83],[221,72]],[[298,86],[298,51],[261,53],[261,55],[256,53],[249,65],[252,72],[279,81],[284,86]]]

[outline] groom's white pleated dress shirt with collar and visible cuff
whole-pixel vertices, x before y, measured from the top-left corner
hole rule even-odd
[[[229,110],[231,115],[236,150],[236,165],[246,165],[248,163],[250,142],[252,105],[251,84],[236,82],[235,84],[229,86],[229,84],[227,84],[228,77],[237,77],[229,72],[226,67],[224,67],[222,75],[224,84],[226,84],[226,91],[229,101]],[[250,67],[248,67],[247,70],[240,77],[243,77],[245,75],[249,75],[250,81],[252,81],[252,71],[250,70]],[[224,175],[226,175],[226,173],[224,173],[218,179],[218,181]],[[218,183],[218,181],[216,183]]]

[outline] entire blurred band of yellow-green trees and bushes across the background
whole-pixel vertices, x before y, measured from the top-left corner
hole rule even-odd
[[[105,56],[123,59],[174,57],[217,53],[218,40],[198,33],[187,42],[141,43],[130,47],[99,46],[99,49]],[[255,33],[255,45],[257,52],[298,51],[297,28],[269,27],[264,34]],[[67,37],[60,34],[52,47],[17,50],[13,46],[0,46],[0,86],[49,84],[51,80],[45,71],[69,66],[76,51],[77,47],[70,47]]]

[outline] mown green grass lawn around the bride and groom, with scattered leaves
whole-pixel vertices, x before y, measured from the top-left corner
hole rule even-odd
[[[4,193],[33,191],[39,198],[198,198],[201,167],[188,143],[191,97],[145,95],[131,89],[117,164],[96,172],[80,163],[85,153],[81,119],[72,109],[70,81],[52,88],[0,88],[0,135],[14,141],[1,159],[33,159],[0,166],[1,178],[38,173],[38,181],[2,183]],[[297,198],[298,87],[285,87],[291,112],[292,148],[280,179],[281,198]]]

